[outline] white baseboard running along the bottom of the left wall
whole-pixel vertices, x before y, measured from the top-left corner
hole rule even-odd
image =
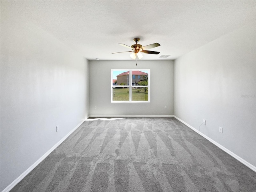
[[[2,192],[9,192],[16,184],[18,184],[25,176],[27,176],[40,162],[42,162],[54,149],[56,149],[72,132],[74,132],[85,120],[80,122],[75,128],[73,128],[66,136],[64,136],[58,143],[56,143],[48,152],[40,157],[34,164],[32,164],[26,171],[24,171],[18,178],[16,178],[10,185],[8,185]]]

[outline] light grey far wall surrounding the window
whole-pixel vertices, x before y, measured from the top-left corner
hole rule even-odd
[[[136,60],[89,61],[90,115],[173,115],[173,61],[138,60],[137,63],[136,66]],[[150,69],[150,103],[111,103],[111,69]]]

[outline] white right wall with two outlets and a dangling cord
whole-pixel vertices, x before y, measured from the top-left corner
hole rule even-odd
[[[256,166],[255,22],[174,62],[174,115]],[[246,97],[243,97],[246,95]],[[221,134],[218,129],[223,128]]]

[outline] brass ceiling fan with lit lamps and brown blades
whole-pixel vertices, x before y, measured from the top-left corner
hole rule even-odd
[[[132,51],[123,51],[123,52],[116,52],[116,53],[132,52],[132,54],[130,54],[130,57],[132,59],[136,59],[136,56],[138,56],[138,58],[141,59],[143,57],[142,53],[147,53],[147,54],[159,54],[160,53],[160,52],[157,52],[157,51],[145,50],[145,49],[151,49],[151,48],[154,48],[154,47],[158,47],[158,46],[160,46],[159,43],[153,43],[153,44],[150,44],[150,45],[142,46],[142,45],[138,44],[138,42],[140,41],[140,38],[134,38],[133,40],[136,42],[136,44],[134,44],[132,46],[128,46],[128,45],[119,43],[119,45],[122,45],[124,47],[129,48],[129,49],[132,49]],[[112,53],[112,54],[115,54],[115,53]]]

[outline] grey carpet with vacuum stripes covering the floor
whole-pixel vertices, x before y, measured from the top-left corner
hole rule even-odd
[[[255,192],[256,173],[175,118],[84,122],[12,192]]]

